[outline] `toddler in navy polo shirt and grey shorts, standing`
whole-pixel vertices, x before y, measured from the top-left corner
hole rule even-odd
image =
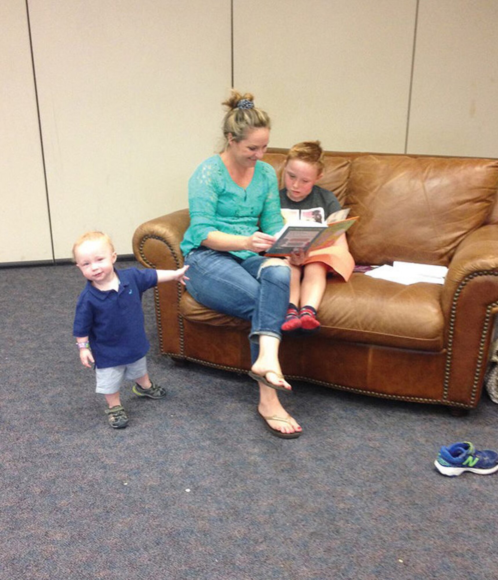
[[[79,358],[85,367],[94,364],[96,392],[106,397],[109,423],[114,429],[128,425],[121,405],[119,387],[123,379],[134,380],[133,393],[159,399],[163,387],[147,374],[149,343],[141,306],[143,292],[158,282],[188,280],[188,266],[179,270],[115,270],[117,254],[108,235],[100,231],[83,234],[72,247],[72,255],[85,276],[86,287],[79,296],[73,334]]]

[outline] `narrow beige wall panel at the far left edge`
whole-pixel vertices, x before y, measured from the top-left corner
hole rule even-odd
[[[0,263],[51,260],[26,3],[0,2]]]

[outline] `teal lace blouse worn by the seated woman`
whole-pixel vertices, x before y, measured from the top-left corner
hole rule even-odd
[[[283,227],[277,176],[271,165],[257,161],[246,189],[238,186],[221,160],[213,155],[195,170],[188,181],[190,226],[180,244],[186,256],[208,237],[210,231],[252,235],[257,230],[275,234]],[[230,252],[239,258],[254,252]]]

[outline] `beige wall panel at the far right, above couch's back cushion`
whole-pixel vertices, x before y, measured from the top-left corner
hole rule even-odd
[[[498,2],[420,0],[408,152],[498,157]]]

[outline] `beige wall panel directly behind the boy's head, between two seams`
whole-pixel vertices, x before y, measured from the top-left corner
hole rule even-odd
[[[234,84],[271,146],[402,153],[415,19],[416,0],[235,0]]]

